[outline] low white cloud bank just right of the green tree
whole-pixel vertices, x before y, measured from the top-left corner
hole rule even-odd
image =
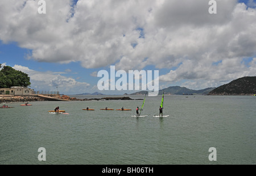
[[[90,86],[88,83],[78,82],[73,78],[67,78],[57,72],[40,72],[31,70],[28,67],[15,65],[15,70],[25,72],[30,76],[31,88],[34,91],[60,91],[60,93],[80,93]]]

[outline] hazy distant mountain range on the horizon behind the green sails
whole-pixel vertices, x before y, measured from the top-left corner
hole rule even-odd
[[[163,91],[164,91],[164,94],[166,95],[195,95],[195,94],[207,95],[213,89],[215,88],[206,88],[206,89],[201,89],[196,91],[196,90],[188,89],[185,87],[172,86],[172,87],[159,90],[159,95],[161,95]],[[145,93],[146,91],[141,91],[141,92],[131,93],[130,95],[145,95]]]

